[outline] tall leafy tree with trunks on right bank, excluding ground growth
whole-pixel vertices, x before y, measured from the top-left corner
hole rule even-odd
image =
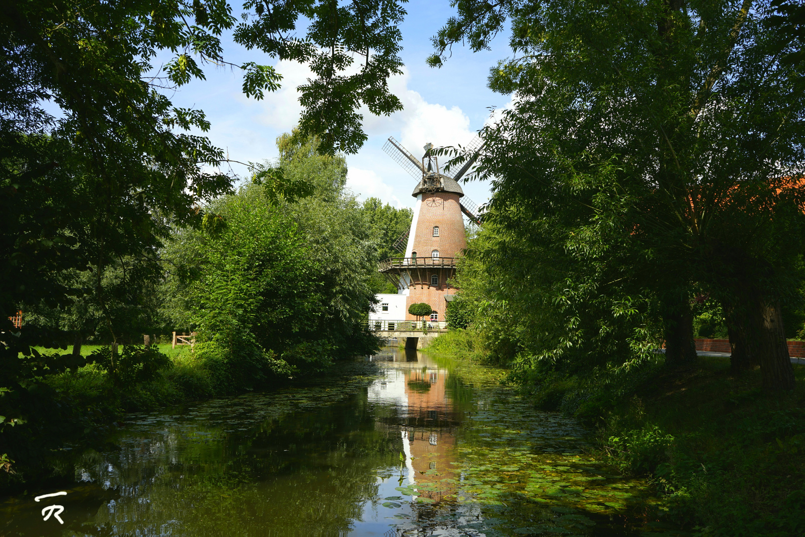
[[[766,389],[791,389],[779,304],[799,287],[790,283],[803,253],[803,185],[785,178],[803,172],[805,85],[780,61],[795,44],[764,26],[769,4],[456,8],[431,64],[460,40],[486,48],[511,20],[514,57],[489,85],[517,98],[485,129],[478,176],[493,178],[485,220],[556,263],[564,283],[551,277],[543,292],[576,312],[563,331],[578,334],[560,345],[622,326],[639,335],[627,353],[650,357],[651,341],[664,340],[667,363],[683,364],[695,357],[692,294],[706,287],[754,319],[735,326],[757,326],[748,337],[765,341]],[[782,235],[795,238],[786,251]]]

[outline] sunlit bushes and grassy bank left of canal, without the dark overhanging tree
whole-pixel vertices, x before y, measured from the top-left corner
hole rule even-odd
[[[22,305],[23,328],[75,341],[72,353],[35,346],[18,358],[35,389],[6,393],[18,414],[3,431],[4,485],[47,477],[52,450],[101,440],[122,412],[280,386],[378,349],[366,313],[378,250],[390,247],[382,226],[410,211],[358,203],[343,156],[320,154],[317,138],[278,146],[248,184],[210,200],[206,225],[171,227],[154,252],[160,270],[138,280],[147,299],[115,288],[130,284],[123,263],[105,275],[106,310],[95,293]],[[171,341],[171,327],[197,334],[192,349],[142,345],[143,332]],[[23,402],[34,406],[8,404]]]

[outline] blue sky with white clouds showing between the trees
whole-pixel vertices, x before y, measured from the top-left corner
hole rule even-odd
[[[421,155],[425,143],[454,145],[468,143],[489,117],[489,107],[502,108],[509,96],[491,92],[486,87],[489,68],[507,56],[506,37],[499,36],[491,51],[470,52],[454,48],[443,68],[427,67],[425,58],[432,52],[431,36],[452,14],[448,2],[414,0],[406,4],[403,25],[403,62],[405,74],[395,76],[390,88],[405,107],[390,118],[377,118],[368,112],[364,128],[369,140],[357,155],[349,155],[349,188],[361,198],[376,196],[398,207],[413,207],[411,191],[415,180],[394,163],[382,146],[394,136],[415,155]],[[228,151],[229,158],[242,162],[275,159],[275,139],[290,131],[299,119],[296,86],[304,83],[308,69],[299,64],[277,62],[261,52],[246,51],[224,42],[226,59],[233,64],[255,61],[270,64],[283,74],[283,87],[266,93],[262,101],[242,94],[241,73],[229,68],[205,66],[206,81],[194,81],[171,96],[174,105],[203,109],[212,127],[210,140]],[[246,167],[232,165],[233,171],[246,176]],[[488,185],[473,182],[464,192],[478,204],[489,197]]]

